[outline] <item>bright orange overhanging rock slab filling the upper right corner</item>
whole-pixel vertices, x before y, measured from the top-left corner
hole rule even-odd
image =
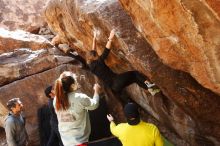
[[[120,0],[163,63],[220,94],[219,0]]]

